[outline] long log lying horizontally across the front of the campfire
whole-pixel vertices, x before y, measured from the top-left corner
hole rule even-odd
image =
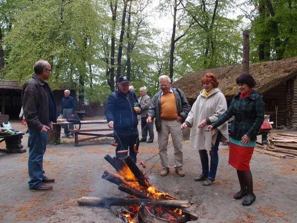
[[[98,198],[98,197],[81,197],[79,205],[85,206],[122,206],[122,205],[148,205],[161,206],[164,208],[189,208],[191,204],[186,200],[155,200],[155,199],[125,199],[125,198]]]

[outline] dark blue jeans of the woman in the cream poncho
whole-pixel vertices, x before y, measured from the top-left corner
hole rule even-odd
[[[199,150],[201,165],[202,165],[202,174],[204,176],[208,176],[208,179],[214,180],[216,170],[219,164],[219,144],[221,140],[221,132],[218,132],[215,144],[213,147],[211,147],[210,151],[210,168],[208,167],[208,155],[206,150]]]

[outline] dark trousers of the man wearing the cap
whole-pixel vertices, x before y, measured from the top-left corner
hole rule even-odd
[[[139,147],[139,138],[138,138],[138,129],[133,129],[131,131],[115,131],[116,134],[114,134],[115,142],[118,144],[118,146],[115,149],[115,157],[116,158],[122,158],[127,156],[126,153],[120,153],[118,154],[117,151],[120,150],[129,150],[129,157],[133,160],[133,162],[136,164],[137,161],[137,153],[134,152],[134,144],[137,146],[137,150]],[[118,138],[119,137],[119,138]]]

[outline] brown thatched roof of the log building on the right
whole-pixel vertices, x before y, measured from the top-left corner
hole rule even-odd
[[[221,89],[226,98],[230,99],[238,92],[236,78],[242,73],[242,65],[200,70],[182,77],[174,82],[173,85],[182,89],[188,100],[196,100],[199,92],[202,90],[201,78],[208,72],[214,73],[217,76],[219,89]],[[287,81],[297,75],[297,57],[250,64],[249,74],[256,80],[257,85],[254,89],[263,94],[278,86],[281,82]]]

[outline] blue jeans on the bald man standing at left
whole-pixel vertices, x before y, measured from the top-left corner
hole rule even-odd
[[[43,169],[43,156],[46,152],[48,133],[38,132],[29,129],[29,159],[28,159],[28,172],[29,172],[29,188],[38,186],[44,178],[45,171]]]

